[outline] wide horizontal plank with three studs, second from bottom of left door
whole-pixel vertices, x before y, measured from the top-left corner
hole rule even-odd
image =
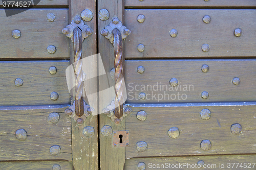
[[[71,161],[71,122],[70,117],[64,113],[68,106],[0,107],[0,160]],[[59,114],[56,124],[48,122],[48,116],[52,112]],[[15,132],[18,129],[27,132],[25,140],[16,138]],[[53,145],[59,145],[60,155],[50,154],[50,147]]]

